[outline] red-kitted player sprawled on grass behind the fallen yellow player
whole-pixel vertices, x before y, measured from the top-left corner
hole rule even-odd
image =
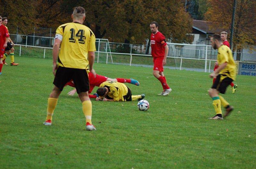
[[[94,76],[94,74],[92,74],[91,72],[88,73],[88,77],[89,77],[89,83],[90,83],[90,90],[88,91],[88,93],[92,93],[92,90],[95,86],[99,87],[101,83],[105,82],[105,81],[117,81],[120,83],[131,83],[134,85],[139,86],[140,82],[136,81],[134,79],[124,79],[124,78],[116,78],[116,79],[111,79],[109,77],[106,76],[101,76],[99,74],[96,74],[96,76]],[[66,85],[69,85],[73,88],[75,88],[75,84],[74,82],[71,80],[69,81]],[[71,90],[70,92],[68,92],[68,95],[72,96],[76,93],[76,89]],[[90,98],[96,98],[97,95],[89,95]]]

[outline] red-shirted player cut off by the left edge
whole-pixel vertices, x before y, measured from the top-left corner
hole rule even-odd
[[[4,50],[7,46],[9,32],[4,25],[2,25],[2,17],[0,17],[0,75],[2,74]]]

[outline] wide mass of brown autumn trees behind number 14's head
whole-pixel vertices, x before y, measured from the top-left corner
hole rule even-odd
[[[1,16],[8,17],[10,32],[16,27],[24,32],[32,27],[57,28],[70,22],[75,6],[86,10],[85,25],[97,38],[126,43],[144,43],[149,38],[149,24],[159,23],[159,30],[176,43],[191,43],[188,36],[192,22],[180,0],[0,0],[4,9]],[[33,30],[31,30],[33,31]]]

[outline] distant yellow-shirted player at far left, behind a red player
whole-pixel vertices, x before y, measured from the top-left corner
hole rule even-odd
[[[8,19],[6,17],[4,17],[2,19],[2,21],[3,21],[3,25],[7,28],[6,25],[7,25]],[[7,28],[7,30],[8,30],[8,28]],[[9,36],[10,36],[10,34],[9,34]],[[14,46],[14,43],[12,42],[12,39],[9,37],[7,47],[5,48],[4,58],[3,58],[3,62],[5,65],[7,65],[7,63],[5,62],[5,59],[8,55],[10,55],[10,58],[11,58],[11,64],[10,64],[11,66],[19,65],[19,63],[14,62],[14,47],[13,46]]]

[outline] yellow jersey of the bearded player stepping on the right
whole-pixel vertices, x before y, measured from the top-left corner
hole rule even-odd
[[[228,76],[229,78],[236,80],[236,63],[233,59],[232,51],[226,45],[221,45],[218,49],[217,60],[219,65],[227,63],[227,66],[222,69],[219,74]]]

